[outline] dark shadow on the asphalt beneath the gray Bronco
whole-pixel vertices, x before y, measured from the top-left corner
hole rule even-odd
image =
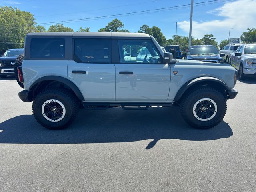
[[[0,143],[76,144],[153,139],[146,149],[153,148],[160,139],[206,141],[233,135],[224,121],[208,130],[191,128],[181,118],[177,106],[148,110],[80,110],[70,127],[58,131],[40,126],[33,115],[20,115],[0,123],[0,130]]]

